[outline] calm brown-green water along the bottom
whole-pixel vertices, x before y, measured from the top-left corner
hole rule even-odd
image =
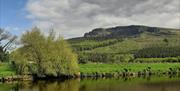
[[[101,78],[1,83],[0,91],[180,91],[180,78]]]

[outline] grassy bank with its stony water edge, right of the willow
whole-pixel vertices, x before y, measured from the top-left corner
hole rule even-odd
[[[81,77],[180,75],[180,63],[81,64]]]

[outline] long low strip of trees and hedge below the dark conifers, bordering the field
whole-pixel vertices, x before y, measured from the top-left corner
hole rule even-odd
[[[164,58],[135,58],[134,54],[79,53],[78,62],[85,63],[179,63],[180,56]]]

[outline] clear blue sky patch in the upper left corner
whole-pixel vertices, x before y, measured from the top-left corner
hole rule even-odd
[[[31,20],[26,18],[27,0],[0,0],[0,27],[15,35],[31,27]]]

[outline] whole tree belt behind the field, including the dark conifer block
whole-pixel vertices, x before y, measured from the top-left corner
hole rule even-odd
[[[180,62],[180,47],[150,47],[130,53],[78,52],[79,63],[174,63]]]

